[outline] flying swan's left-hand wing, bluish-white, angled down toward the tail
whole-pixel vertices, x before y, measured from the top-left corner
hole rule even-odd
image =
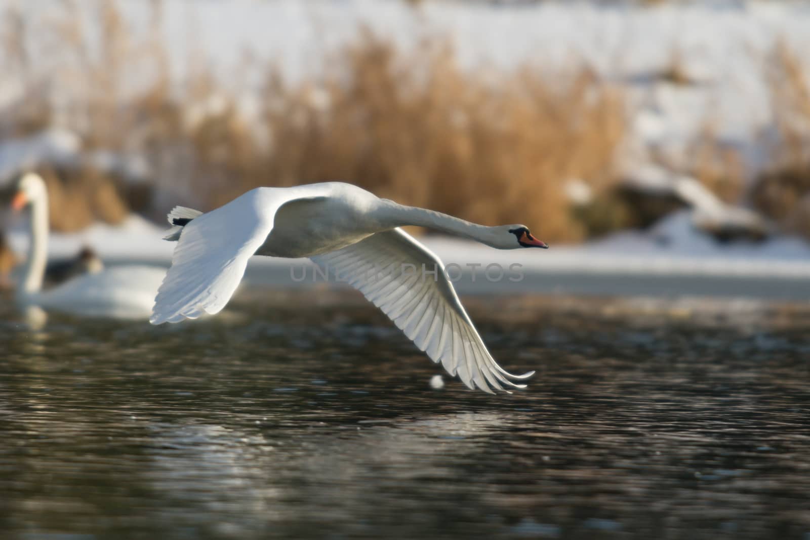
[[[254,190],[185,225],[149,321],[179,322],[224,308],[273,227],[266,210]]]

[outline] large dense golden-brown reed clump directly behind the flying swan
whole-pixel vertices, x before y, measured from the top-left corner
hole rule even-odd
[[[622,96],[586,70],[549,83],[523,69],[493,84],[460,70],[446,45],[400,53],[369,31],[332,66],[315,82],[268,83],[266,178],[278,185],[343,179],[479,223],[525,222],[550,240],[578,240],[584,230],[563,182],[600,189],[614,180]]]

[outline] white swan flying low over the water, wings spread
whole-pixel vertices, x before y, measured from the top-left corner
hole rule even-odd
[[[525,388],[512,380],[534,373],[513,375],[492,359],[439,258],[399,228],[430,227],[497,249],[548,248],[523,225],[484,227],[341,182],[257,188],[206,214],[177,206],[168,219],[174,227],[165,239],[177,240],[177,247],[152,324],[218,313],[254,254],[309,257],[329,275],[347,279],[471,389]],[[403,265],[438,271],[434,279]]]

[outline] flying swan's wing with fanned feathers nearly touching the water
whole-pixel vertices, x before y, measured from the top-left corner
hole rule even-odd
[[[444,265],[424,245],[401,229],[378,232],[356,244],[311,257],[318,266],[355,287],[381,308],[405,335],[450,375],[471,389],[492,393],[504,386],[525,388],[497,364],[481,341]],[[423,266],[424,265],[424,266]],[[423,271],[437,270],[433,274]]]

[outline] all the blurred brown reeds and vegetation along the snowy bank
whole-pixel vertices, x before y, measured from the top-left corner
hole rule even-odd
[[[407,2],[416,11],[425,3]],[[329,180],[475,222],[536,223],[549,242],[644,227],[689,204],[626,182],[625,87],[583,62],[465,70],[441,33],[406,49],[365,26],[326,52],[318,74],[292,79],[245,51],[226,85],[197,47],[178,82],[160,32],[164,2],[148,4],[140,32],[112,0],[53,7],[48,32],[15,3],[4,8],[0,70],[25,99],[0,108],[0,143],[82,156],[36,163],[56,230],[119,223],[132,210],[161,219],[174,202],[209,209],[258,185]],[[765,166],[748,170],[711,118],[687,163],[660,164],[810,238],[810,78],[798,55],[780,42],[761,74],[778,128]],[[677,49],[655,77],[696,84]],[[241,99],[251,92],[258,105],[246,114]]]

